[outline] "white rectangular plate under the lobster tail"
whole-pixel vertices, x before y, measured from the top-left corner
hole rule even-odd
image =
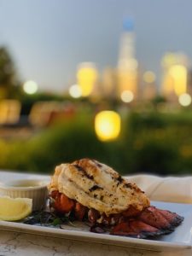
[[[0,221],[0,230],[17,231],[21,233],[35,234],[41,236],[62,237],[79,241],[92,241],[102,244],[113,244],[124,247],[137,247],[139,249],[153,250],[156,252],[191,249],[192,205],[157,201],[151,202],[151,205],[172,212],[177,212],[177,214],[184,217],[183,223],[178,226],[172,234],[160,236],[155,240],[144,240],[124,236],[96,234],[91,233],[89,230],[86,230],[86,228],[84,229],[84,226],[75,228],[71,225],[68,227],[66,226],[66,228],[68,229],[61,230],[52,227]]]

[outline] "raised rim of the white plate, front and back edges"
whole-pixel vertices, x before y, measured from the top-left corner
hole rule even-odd
[[[172,204],[172,205],[189,205],[184,203],[173,203],[173,202],[162,202],[162,201],[151,201],[152,204]],[[191,212],[192,212],[192,205]],[[30,225],[23,224],[20,222],[8,222],[0,220],[0,230],[7,231],[16,231],[20,233],[26,233],[31,235],[39,235],[39,236],[51,236],[51,237],[59,237],[66,238],[70,240],[78,240],[78,241],[91,241],[102,244],[110,244],[113,242],[115,246],[121,247],[134,247],[137,249],[150,250],[155,252],[164,252],[171,250],[184,250],[191,249],[191,242],[174,242],[174,241],[158,241],[158,240],[146,240],[146,239],[137,239],[125,236],[112,236],[108,234],[96,234],[91,233],[84,230],[62,230],[49,226],[40,226],[40,225]],[[139,247],[138,247],[139,246]]]

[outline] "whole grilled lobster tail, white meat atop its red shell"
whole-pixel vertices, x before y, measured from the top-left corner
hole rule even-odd
[[[91,231],[108,228],[111,235],[148,238],[171,233],[183,217],[150,205],[135,183],[96,160],[56,166],[49,184],[52,207],[75,219],[88,219]]]

